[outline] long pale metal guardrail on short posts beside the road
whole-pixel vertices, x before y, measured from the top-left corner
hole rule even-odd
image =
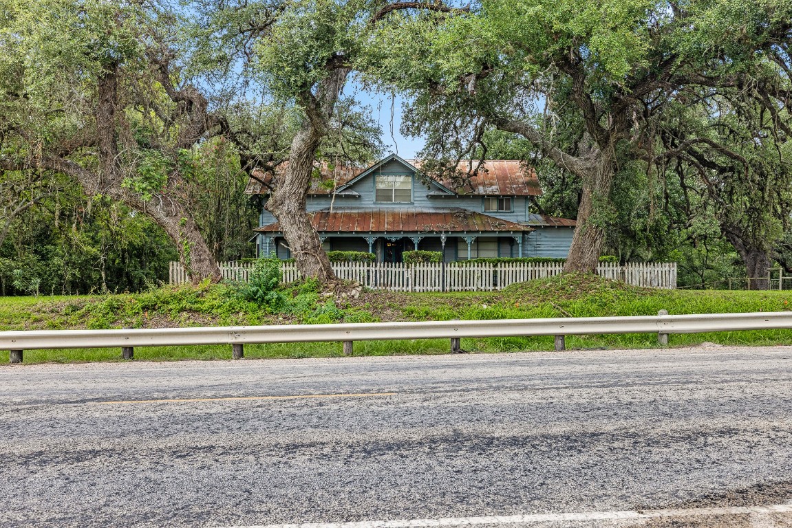
[[[0,350],[10,350],[11,363],[21,363],[24,350],[122,348],[124,359],[131,359],[135,347],[230,344],[233,357],[241,358],[245,344],[343,341],[345,353],[351,353],[353,341],[451,339],[451,350],[454,351],[459,349],[461,338],[516,336],[556,336],[556,349],[562,350],[563,336],[566,335],[657,333],[658,342],[667,344],[668,334],[674,333],[766,329],[792,329],[792,312],[178,329],[29,330],[0,332]]]

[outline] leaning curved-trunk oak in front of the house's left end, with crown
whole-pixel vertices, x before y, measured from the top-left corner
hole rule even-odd
[[[317,172],[316,162],[332,169],[356,165],[379,154],[379,128],[345,83],[359,55],[367,2],[200,2],[196,33],[217,36],[221,54],[239,63],[246,82],[265,100],[295,111],[293,133],[277,155],[251,165],[252,177],[265,189],[265,207],[278,219],[284,238],[303,276],[320,282],[334,278],[321,242],[306,213],[306,196]],[[268,17],[257,17],[268,13]],[[253,15],[253,19],[251,19]],[[206,46],[197,56],[215,56]],[[207,61],[206,69],[216,68]],[[234,132],[243,158],[250,141]]]

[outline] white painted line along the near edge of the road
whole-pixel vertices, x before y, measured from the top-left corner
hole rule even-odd
[[[432,528],[434,526],[517,524],[522,522],[657,519],[658,517],[692,517],[696,515],[768,515],[790,512],[792,512],[792,504],[771,504],[767,506],[684,508],[679,510],[587,511],[578,513],[492,515],[488,517],[447,517],[445,519],[397,519],[392,521],[261,524],[248,526],[225,526],[223,528]]]

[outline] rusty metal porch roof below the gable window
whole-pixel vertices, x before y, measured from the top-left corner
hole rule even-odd
[[[309,213],[320,233],[459,233],[531,231],[531,227],[466,209],[329,209]],[[259,227],[261,233],[280,233],[276,223]]]

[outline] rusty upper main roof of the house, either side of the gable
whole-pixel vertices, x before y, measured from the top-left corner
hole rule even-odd
[[[387,159],[387,158],[386,158]],[[420,160],[406,160],[409,164],[420,168]],[[372,165],[373,166],[373,165]],[[471,174],[476,169],[478,162],[461,161],[457,172],[462,175],[458,180],[446,178],[438,181],[444,188],[462,196],[541,196],[542,188],[539,179],[532,167],[527,167],[518,160],[487,160],[482,163],[478,172]],[[279,172],[285,169],[285,164],[279,167]],[[309,194],[329,194],[333,189],[348,184],[368,169],[358,167],[343,167],[337,165],[331,171],[326,163],[318,166],[318,174],[311,180]],[[272,173],[258,173],[257,176],[269,183]],[[246,191],[248,194],[267,194],[268,188],[255,178],[250,178]],[[432,194],[436,196],[436,194]]]

